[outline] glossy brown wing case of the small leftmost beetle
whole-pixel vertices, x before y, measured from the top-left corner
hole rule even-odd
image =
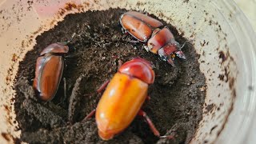
[[[34,89],[38,91],[39,98],[49,101],[54,98],[62,78],[64,61],[62,56],[46,55],[38,57]]]

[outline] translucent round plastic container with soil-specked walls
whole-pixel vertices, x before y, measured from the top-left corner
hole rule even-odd
[[[194,38],[206,76],[203,118],[191,143],[256,142],[256,43],[249,22],[232,1],[0,1],[0,142],[18,138],[12,89],[18,62],[34,38],[69,13],[109,8],[146,10]],[[211,109],[208,111],[206,110]]]

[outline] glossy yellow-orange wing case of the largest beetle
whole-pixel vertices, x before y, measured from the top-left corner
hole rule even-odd
[[[127,74],[117,73],[106,87],[96,109],[98,134],[113,138],[134,120],[146,99],[148,84]]]

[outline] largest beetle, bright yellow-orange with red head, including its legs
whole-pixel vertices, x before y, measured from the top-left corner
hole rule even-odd
[[[161,136],[153,122],[141,110],[142,104],[148,98],[147,91],[154,83],[152,64],[142,58],[133,58],[120,66],[111,81],[105,82],[98,90],[106,90],[98,102],[96,110],[92,110],[85,118],[95,114],[98,135],[103,140],[109,140],[114,135],[125,130],[138,114],[146,119],[150,129],[158,138],[172,138]]]

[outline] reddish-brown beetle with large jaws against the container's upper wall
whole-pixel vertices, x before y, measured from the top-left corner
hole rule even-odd
[[[147,42],[145,49],[153,54],[158,54],[162,60],[174,66],[174,58],[186,60],[182,47],[175,41],[170,30],[155,18],[136,11],[129,11],[122,14],[119,22],[122,30],[129,33],[138,42]],[[184,43],[185,44],[185,43]]]

